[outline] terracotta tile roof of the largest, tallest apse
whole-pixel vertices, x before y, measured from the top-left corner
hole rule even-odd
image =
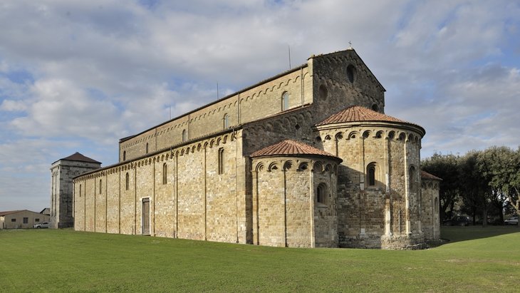
[[[340,110],[338,113],[331,115],[329,118],[326,118],[316,125],[359,121],[385,121],[412,124],[404,120],[376,112],[375,110],[370,110],[369,108],[352,106],[344,110]]]

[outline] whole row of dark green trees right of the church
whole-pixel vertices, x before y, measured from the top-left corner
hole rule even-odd
[[[493,146],[465,155],[435,153],[421,161],[427,173],[442,178],[440,218],[469,215],[473,225],[482,220],[504,222],[504,214],[519,214],[520,147]]]

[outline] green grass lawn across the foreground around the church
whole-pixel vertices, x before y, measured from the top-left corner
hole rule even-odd
[[[442,237],[450,241],[393,251],[0,230],[0,291],[519,291],[519,227],[443,227]]]

